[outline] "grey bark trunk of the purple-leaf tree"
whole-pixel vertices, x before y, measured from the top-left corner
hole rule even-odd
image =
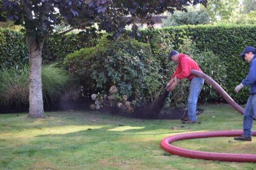
[[[41,79],[41,51],[44,41],[36,37],[28,37],[29,44],[29,116],[33,118],[45,117],[44,103],[42,101],[42,79]]]

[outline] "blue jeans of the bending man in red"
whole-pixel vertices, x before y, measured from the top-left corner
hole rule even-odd
[[[189,120],[197,121],[197,101],[203,84],[204,79],[200,77],[194,77],[190,81],[189,95],[187,100],[187,111]]]

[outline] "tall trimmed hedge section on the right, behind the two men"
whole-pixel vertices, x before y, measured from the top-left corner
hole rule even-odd
[[[154,47],[155,37],[166,32],[172,35],[170,41],[174,41],[173,44],[182,43],[183,39],[189,37],[196,43],[195,51],[214,52],[227,68],[227,87],[224,89],[237,102],[246,102],[248,88],[238,94],[233,89],[247,75],[249,65],[239,58],[239,54],[248,45],[256,46],[256,25],[201,25],[141,30],[142,36],[138,40],[148,42]],[[174,45],[174,48],[177,47],[178,45]]]

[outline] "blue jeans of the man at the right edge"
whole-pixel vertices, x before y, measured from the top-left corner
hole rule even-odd
[[[251,136],[251,128],[253,123],[253,116],[256,115],[256,94],[250,95],[246,107],[244,109],[244,136]]]

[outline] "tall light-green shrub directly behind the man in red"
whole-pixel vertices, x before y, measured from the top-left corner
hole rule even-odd
[[[168,59],[169,52],[171,50],[174,50],[174,46],[178,46],[176,50],[180,51],[181,53],[184,51],[190,51],[190,40],[182,39],[180,41],[182,43],[177,44],[174,44],[174,42],[175,41],[173,35],[169,34],[168,32],[162,32],[161,34],[157,34],[151,40],[153,55],[160,65],[159,77],[161,77],[161,79],[159,82],[161,84],[161,88],[157,87],[156,89],[154,89],[154,93],[156,94],[159,94],[161,91],[164,90],[165,85],[170,80],[170,78],[172,78],[172,75],[177,67],[176,62],[171,62]],[[150,79],[154,81],[154,78],[150,77]],[[189,92],[188,87],[188,81],[181,81],[168,96],[166,101],[167,106],[181,106],[185,104]]]

